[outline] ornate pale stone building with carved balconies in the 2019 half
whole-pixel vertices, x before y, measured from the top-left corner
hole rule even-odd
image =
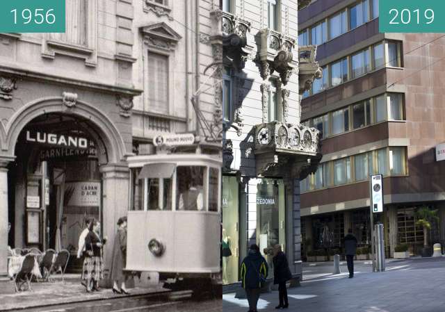
[[[300,93],[320,72],[314,47],[298,47],[297,8],[223,1],[225,285],[236,285],[252,243],[271,268],[264,249],[282,245],[301,274],[299,179],[320,156],[318,131],[300,124]]]

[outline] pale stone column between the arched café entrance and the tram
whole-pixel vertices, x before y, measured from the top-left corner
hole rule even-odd
[[[102,287],[111,288],[110,267],[118,219],[129,210],[129,168],[124,164],[100,167],[102,173],[102,235],[107,238],[104,247],[104,279]]]

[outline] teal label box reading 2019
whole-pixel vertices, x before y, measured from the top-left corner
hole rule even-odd
[[[445,33],[444,0],[380,0],[380,33]]]

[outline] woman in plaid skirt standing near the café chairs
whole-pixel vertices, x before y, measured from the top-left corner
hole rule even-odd
[[[86,281],[86,291],[99,291],[99,279],[103,278],[102,240],[97,233],[99,222],[92,220],[85,238],[85,260],[83,261],[82,279]]]

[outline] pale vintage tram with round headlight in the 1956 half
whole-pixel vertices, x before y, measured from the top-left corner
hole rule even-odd
[[[126,269],[160,281],[220,274],[220,153],[131,156]]]

